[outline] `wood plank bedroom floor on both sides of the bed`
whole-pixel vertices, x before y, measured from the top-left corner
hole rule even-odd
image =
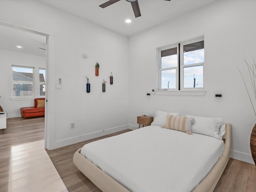
[[[128,130],[125,130],[128,131]],[[117,134],[120,134],[118,132]],[[109,136],[113,136],[111,134]],[[104,136],[101,138],[105,138]],[[85,142],[72,144],[56,150],[47,151],[60,177],[70,192],[100,192],[84,174],[82,174],[72,162],[74,152],[88,142],[101,138],[95,138]],[[62,157],[65,157],[63,159]],[[214,192],[256,192],[256,166],[230,158],[222,177]]]

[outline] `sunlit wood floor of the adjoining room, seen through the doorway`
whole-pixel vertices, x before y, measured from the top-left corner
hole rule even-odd
[[[7,119],[0,131],[0,192],[68,192],[44,149],[44,117]]]

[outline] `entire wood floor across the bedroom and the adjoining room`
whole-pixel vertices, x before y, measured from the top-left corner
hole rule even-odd
[[[129,130],[123,132],[126,131]],[[115,134],[120,133],[122,132]],[[115,134],[110,134],[108,136],[113,136]],[[90,180],[88,180],[88,178],[86,178],[72,162],[74,152],[78,148],[88,142],[100,138],[51,151],[35,150],[35,146],[40,146],[40,148],[42,148],[43,138],[43,117],[27,118],[26,120],[23,118],[11,118],[7,120],[7,129],[5,133],[2,134],[2,131],[0,131],[0,192],[64,192],[67,190],[69,192],[100,192],[100,190],[90,182]],[[31,157],[30,151],[33,152],[35,156]],[[49,158],[47,159],[44,156],[45,154],[46,156],[48,154],[50,160],[52,160],[50,165],[48,162]],[[40,162],[39,166],[41,169],[38,171],[40,171],[41,175],[42,171],[46,171],[47,174],[49,174],[48,177],[40,178],[46,181],[46,186],[41,185],[37,190],[33,190],[34,184],[32,184],[32,181],[35,180],[32,178],[36,178],[38,175],[38,172],[32,170],[32,168],[35,168],[35,166],[31,166],[31,164],[34,164],[34,161],[38,163]],[[45,162],[47,162],[47,164]],[[56,170],[58,171],[57,176],[55,172]],[[29,181],[28,179],[32,180]],[[26,182],[26,184],[24,184],[24,182]],[[25,188],[30,190],[25,190]],[[256,192],[256,166],[230,159],[214,192]]]

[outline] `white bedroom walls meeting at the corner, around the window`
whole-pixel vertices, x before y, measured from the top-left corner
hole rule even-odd
[[[249,139],[256,121],[236,66],[246,73],[244,58],[252,63],[256,57],[254,7],[255,1],[216,1],[129,39],[36,1],[0,1],[0,18],[56,37],[52,83],[62,78],[62,90],[54,92],[52,148],[108,133],[104,129],[124,129],[128,123],[137,128],[136,116],[163,110],[224,118],[233,128],[231,156],[252,163]],[[146,96],[156,88],[156,47],[201,35],[205,96]],[[82,58],[83,52],[88,58]],[[114,84],[103,93],[101,83],[110,72]]]

